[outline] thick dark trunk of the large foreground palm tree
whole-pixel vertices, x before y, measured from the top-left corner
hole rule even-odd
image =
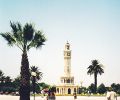
[[[21,61],[20,100],[30,100],[30,72],[26,51],[22,54]]]

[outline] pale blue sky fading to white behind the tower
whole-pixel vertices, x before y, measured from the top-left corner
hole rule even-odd
[[[58,83],[64,68],[64,45],[69,41],[76,83],[83,81],[88,86],[93,82],[93,76],[86,72],[94,59],[104,65],[105,71],[98,76],[98,84],[120,83],[119,5],[119,0],[0,0],[0,32],[11,31],[11,20],[22,25],[33,23],[45,33],[46,45],[28,53],[30,65],[39,66],[44,73],[42,81]],[[9,48],[0,37],[0,69],[16,77],[20,61],[21,51]]]

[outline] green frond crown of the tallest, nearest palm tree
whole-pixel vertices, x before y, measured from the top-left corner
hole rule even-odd
[[[26,23],[24,27],[20,23],[10,22],[11,33],[1,33],[0,35],[7,41],[8,45],[16,45],[22,51],[32,47],[39,48],[46,41],[45,35],[41,31],[34,29],[31,23]],[[24,48],[26,47],[26,48]]]

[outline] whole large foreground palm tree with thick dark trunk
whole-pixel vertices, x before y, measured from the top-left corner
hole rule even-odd
[[[27,52],[30,48],[39,48],[44,45],[46,38],[41,31],[34,29],[33,25],[26,23],[23,27],[17,22],[10,22],[11,32],[1,33],[9,46],[17,46],[22,50],[20,100],[30,100],[30,72]]]

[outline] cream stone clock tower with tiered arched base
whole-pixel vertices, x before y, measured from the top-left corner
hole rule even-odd
[[[60,85],[56,86],[56,94],[78,93],[78,89],[79,86],[74,84],[74,76],[71,76],[71,49],[67,42],[64,48],[64,75],[60,77]]]

